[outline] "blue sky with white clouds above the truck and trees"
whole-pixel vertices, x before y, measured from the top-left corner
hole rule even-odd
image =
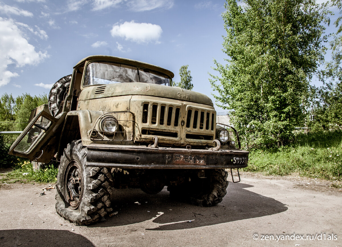
[[[225,63],[227,58],[221,50],[224,3],[0,0],[0,95],[49,94],[81,59],[112,55],[168,69],[175,82],[188,64],[193,90],[215,103],[208,73],[215,73],[214,59]],[[332,24],[327,32],[335,32]]]

